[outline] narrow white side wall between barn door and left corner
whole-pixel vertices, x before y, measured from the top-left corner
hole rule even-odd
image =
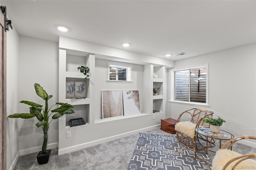
[[[18,111],[19,35],[15,27],[6,34],[6,115]],[[18,119],[6,119],[6,169],[13,169],[19,156]]]

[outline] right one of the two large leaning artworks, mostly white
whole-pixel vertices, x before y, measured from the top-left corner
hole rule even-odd
[[[140,94],[138,90],[123,90],[124,116],[140,114]]]

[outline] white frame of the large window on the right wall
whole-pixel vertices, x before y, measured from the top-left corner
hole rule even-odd
[[[175,71],[198,69],[201,67],[206,67],[206,103],[175,100]],[[169,81],[170,91],[169,91],[169,101],[168,102],[193,105],[193,106],[210,107],[210,105],[209,105],[209,64],[208,63],[202,64],[202,65],[197,65],[197,66],[192,66],[192,67],[169,69],[169,77],[170,77],[170,81]]]

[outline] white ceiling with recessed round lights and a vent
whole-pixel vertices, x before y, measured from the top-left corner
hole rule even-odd
[[[66,36],[179,60],[256,43],[256,1],[0,0],[22,36]],[[66,26],[69,32],[59,32]],[[12,31],[12,30],[10,30]],[[130,47],[122,47],[122,43]],[[165,57],[184,52],[185,55]]]

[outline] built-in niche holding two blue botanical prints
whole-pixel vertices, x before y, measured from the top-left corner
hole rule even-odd
[[[89,79],[66,77],[66,99],[90,99],[89,88]]]

